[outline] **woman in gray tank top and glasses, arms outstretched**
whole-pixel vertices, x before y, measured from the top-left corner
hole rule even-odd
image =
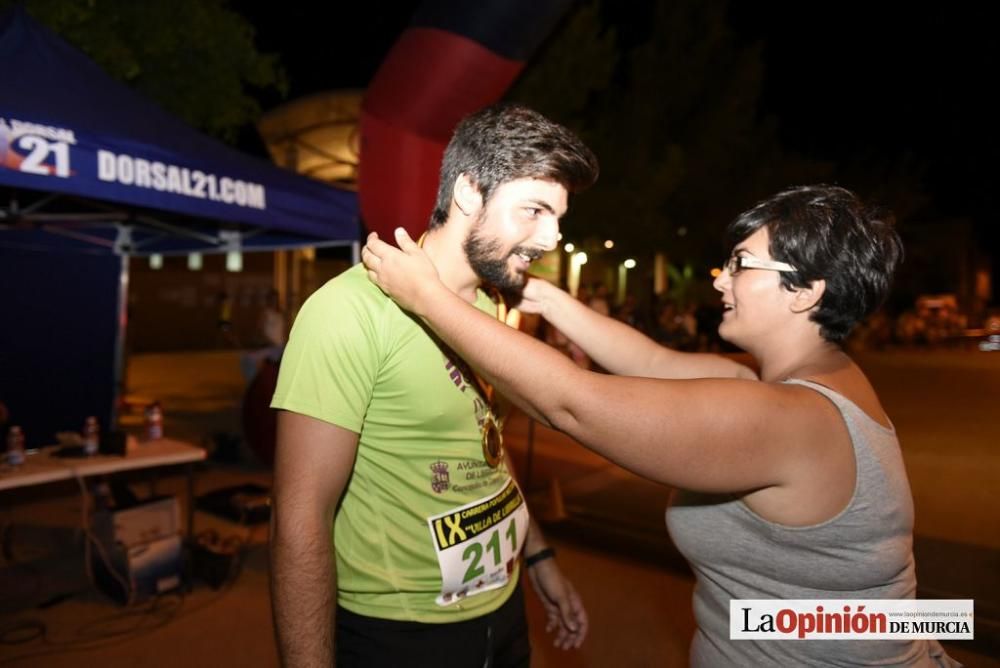
[[[363,253],[383,290],[529,414],[683,490],[667,521],[697,578],[693,665],[956,665],[932,640],[730,640],[733,599],[915,595],[899,444],[840,345],[882,304],[902,257],[886,212],[843,188],[806,186],[730,224],[729,259],[715,280],[719,334],[753,356],[756,373],[668,350],[526,281],[521,308],[615,375],[581,370],[470,308],[405,233],[396,240],[402,252],[373,236]]]

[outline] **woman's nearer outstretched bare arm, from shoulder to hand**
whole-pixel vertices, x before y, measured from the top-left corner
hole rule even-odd
[[[509,399],[643,477],[707,492],[784,485],[816,464],[823,432],[839,421],[828,402],[794,386],[583,371],[451,292],[405,231],[396,240],[401,250],[370,235],[362,255],[382,290]]]

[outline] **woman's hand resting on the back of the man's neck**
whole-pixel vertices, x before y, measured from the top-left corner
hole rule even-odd
[[[368,270],[368,278],[407,311],[420,314],[420,308],[430,299],[435,289],[447,291],[437,269],[423,249],[402,227],[395,230],[393,248],[378,238],[378,233],[368,235],[361,249],[361,260]]]

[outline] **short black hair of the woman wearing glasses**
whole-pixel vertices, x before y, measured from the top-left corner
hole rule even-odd
[[[766,227],[771,257],[797,270],[781,273],[784,288],[826,281],[810,318],[824,339],[839,342],[889,294],[903,259],[893,223],[889,211],[865,205],[845,188],[800,186],[740,214],[726,230],[726,247],[732,253],[736,244]]]

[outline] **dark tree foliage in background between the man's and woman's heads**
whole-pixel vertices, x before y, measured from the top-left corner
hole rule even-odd
[[[510,96],[568,122],[601,160],[597,186],[567,221],[573,237],[712,266],[733,215],[790,183],[827,177],[832,165],[781,148],[774,120],[758,113],[760,47],[737,43],[723,0],[639,7],[626,43],[606,8],[583,5]]]

